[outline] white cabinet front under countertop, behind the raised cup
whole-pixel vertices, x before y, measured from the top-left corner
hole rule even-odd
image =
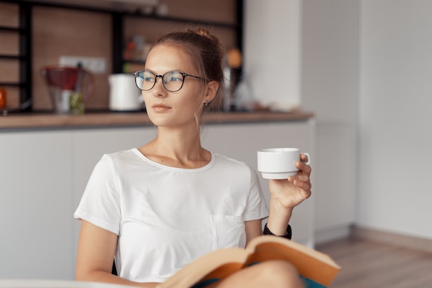
[[[314,164],[314,120],[304,122],[209,125],[202,131],[203,146],[215,153],[246,162],[257,169],[257,150],[297,147],[308,152]],[[268,180],[260,177],[266,200],[270,199]],[[313,182],[313,177],[312,177]],[[263,224],[265,224],[265,220]],[[293,240],[313,246],[313,197],[296,207],[290,221]]]

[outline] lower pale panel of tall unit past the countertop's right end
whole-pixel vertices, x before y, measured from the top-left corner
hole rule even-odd
[[[320,241],[355,221],[355,127],[351,124],[317,124],[316,231]],[[337,180],[335,180],[337,175]]]

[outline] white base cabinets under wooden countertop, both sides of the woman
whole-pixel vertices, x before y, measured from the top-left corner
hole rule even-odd
[[[314,120],[209,124],[203,145],[256,169],[256,151],[297,146],[314,161]],[[0,133],[0,278],[75,278],[79,222],[72,215],[104,153],[153,140],[153,126]],[[268,195],[268,181],[262,179]],[[293,238],[313,245],[313,198],[295,209]]]

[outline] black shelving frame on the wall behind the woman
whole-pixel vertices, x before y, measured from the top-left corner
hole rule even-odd
[[[173,16],[160,16],[157,14],[146,14],[144,12],[132,12],[126,8],[113,8],[113,7],[102,7],[102,6],[91,6],[91,3],[101,3],[101,1],[73,1],[73,0],[62,0],[62,1],[45,1],[45,0],[0,0],[0,3],[11,3],[19,8],[19,24],[17,27],[0,26],[0,33],[17,33],[19,37],[19,51],[16,54],[0,53],[0,60],[2,61],[18,61],[19,63],[19,81],[13,83],[11,81],[0,81],[2,86],[15,86],[19,88],[19,111],[32,111],[32,106],[28,106],[29,101],[32,101],[32,17],[33,8],[46,7],[46,8],[62,8],[70,10],[80,10],[85,12],[98,12],[106,13],[112,20],[111,28],[111,39],[112,39],[112,55],[111,71],[110,73],[124,73],[124,68],[128,65],[142,66],[145,61],[137,59],[128,59],[124,56],[124,46],[129,37],[127,33],[130,27],[127,26],[127,21],[150,21],[152,25],[157,26],[157,23],[161,23],[162,26],[175,27],[176,23],[181,23],[181,26],[185,23],[192,25],[202,25],[210,28],[216,28],[226,32],[230,37],[229,44],[236,46],[242,51],[242,17],[243,17],[243,2],[244,0],[235,0],[230,5],[230,17],[213,17],[211,20],[196,19],[196,15],[185,14],[185,15],[173,15]],[[185,16],[185,17],[183,17]],[[205,17],[203,17],[205,18]],[[135,20],[137,19],[137,20]],[[126,30],[126,31],[125,31]],[[145,33],[145,32],[144,32]],[[147,35],[145,35],[147,36]],[[152,37],[155,37],[153,33]],[[155,39],[148,39],[148,43],[151,43]],[[143,57],[144,58],[144,57]],[[25,104],[25,105],[21,105]],[[21,109],[22,106],[26,106],[25,109]]]

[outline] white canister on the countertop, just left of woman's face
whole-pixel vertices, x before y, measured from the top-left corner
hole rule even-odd
[[[135,85],[132,74],[111,74],[108,76],[110,84],[110,111],[139,111],[143,108],[144,99],[141,90]]]

